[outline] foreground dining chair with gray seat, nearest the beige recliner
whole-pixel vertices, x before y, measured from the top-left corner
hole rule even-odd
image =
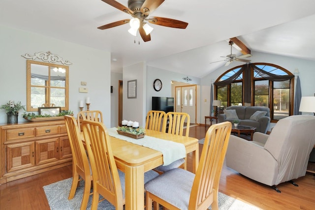
[[[205,210],[210,205],[218,210],[219,181],[231,129],[231,122],[210,126],[196,174],[175,168],[147,182],[147,206],[154,200],[170,210]]]

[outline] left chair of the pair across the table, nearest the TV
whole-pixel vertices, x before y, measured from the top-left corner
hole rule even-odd
[[[164,111],[151,110],[147,113],[146,129],[162,131],[163,121],[166,120]]]

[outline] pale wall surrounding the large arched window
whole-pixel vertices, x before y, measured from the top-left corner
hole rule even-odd
[[[259,53],[252,51],[251,57],[252,63],[254,62],[266,62],[279,65],[286,70],[294,74],[295,69],[299,71],[299,78],[301,81],[301,90],[302,96],[314,96],[315,93],[315,61],[312,60],[303,60],[290,58],[285,56],[277,56],[266,53]],[[208,74],[207,76],[201,79],[201,103],[203,106],[201,108],[201,119],[204,116],[209,116],[210,113],[210,84],[214,82],[221,74],[226,70],[242,65],[242,62],[233,62],[229,66],[222,66],[221,68],[216,69],[214,72]],[[222,64],[224,65],[224,63]],[[207,102],[202,102],[204,100]]]

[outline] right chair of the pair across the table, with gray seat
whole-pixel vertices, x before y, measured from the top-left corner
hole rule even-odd
[[[185,122],[186,122],[185,136],[188,137],[189,136],[189,125],[190,125],[189,114],[183,113],[183,112],[168,112],[165,115],[165,120],[163,120],[162,132],[183,136],[184,128],[185,128]],[[181,158],[179,160],[172,162],[171,164],[169,164],[167,166],[163,166],[163,165],[158,166],[157,168],[155,168],[155,171],[157,171],[159,174],[161,174],[161,173],[164,173],[168,170],[171,170],[173,168],[178,168],[178,167],[184,167],[184,169],[187,169],[186,159],[187,158]]]

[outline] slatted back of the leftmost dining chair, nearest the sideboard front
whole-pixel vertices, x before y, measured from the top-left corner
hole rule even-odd
[[[85,173],[91,175],[88,156],[81,139],[77,121],[73,116],[69,115],[64,116],[64,121],[72,151],[73,167],[76,167],[77,173],[81,177],[85,177]]]

